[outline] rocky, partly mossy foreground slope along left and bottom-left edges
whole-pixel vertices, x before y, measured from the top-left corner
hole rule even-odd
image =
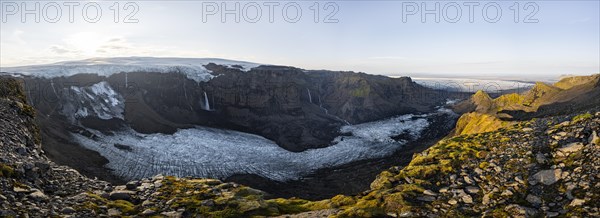
[[[238,217],[277,215],[295,203],[211,179],[157,176],[112,186],[84,177],[46,157],[34,113],[22,82],[0,78],[0,217]]]

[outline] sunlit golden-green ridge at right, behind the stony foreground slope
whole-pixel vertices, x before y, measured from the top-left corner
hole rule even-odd
[[[563,78],[554,85],[537,82],[523,94],[511,93],[491,98],[478,91],[455,107],[465,113],[454,135],[494,131],[514,121],[577,113],[600,104],[600,74]]]

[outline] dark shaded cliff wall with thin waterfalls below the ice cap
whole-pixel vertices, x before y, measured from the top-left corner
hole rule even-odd
[[[258,134],[290,151],[326,147],[342,125],[432,112],[452,97],[410,78],[277,66],[206,68],[218,76],[197,82],[178,73],[136,72],[25,81],[48,123],[130,126],[140,133],[202,125]]]

